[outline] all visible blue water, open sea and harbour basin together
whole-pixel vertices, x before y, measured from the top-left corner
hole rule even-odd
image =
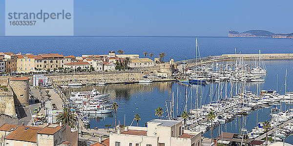
[[[159,53],[165,52],[165,59],[174,58],[175,60],[183,60],[194,58],[194,41],[192,37],[0,37],[0,52],[14,53],[59,53],[63,55],[84,55],[84,54],[107,54],[108,51],[124,50],[126,54],[139,54],[143,52],[153,53],[155,57]],[[234,47],[237,53],[242,54],[258,53],[261,49],[262,53],[293,53],[293,39],[272,39],[272,38],[228,38],[228,37],[199,37],[199,48],[201,56],[222,55],[234,53]],[[259,90],[275,90],[277,85],[277,75],[279,79],[279,92],[284,93],[285,71],[287,69],[287,91],[293,91],[293,60],[273,60],[265,61],[268,73],[264,76],[265,82],[259,83]],[[231,85],[228,84],[228,89]],[[247,90],[256,92],[255,83],[245,85]],[[154,110],[158,107],[164,108],[165,101],[171,99],[174,92],[177,99],[178,92],[178,114],[183,111],[185,106],[185,91],[190,93],[192,90],[192,104],[188,100],[188,110],[190,106],[195,108],[195,103],[209,103],[209,88],[206,86],[188,86],[178,84],[176,82],[161,82],[152,84],[130,84],[130,85],[105,85],[105,86],[84,86],[65,90],[67,95],[70,91],[87,91],[96,88],[102,93],[111,93],[109,99],[119,104],[117,111],[117,120],[120,124],[130,125],[133,116],[138,113],[141,115],[139,126],[145,126],[147,121],[155,116]],[[202,88],[202,99],[196,101],[196,88]],[[217,91],[218,84],[213,84],[214,91]],[[230,92],[230,91],[228,91]],[[200,93],[199,93],[200,94]],[[232,94],[235,94],[234,87]],[[223,94],[224,95],[224,94]],[[190,95],[189,95],[190,96]],[[213,101],[217,100],[217,92],[213,93]],[[190,97],[189,97],[190,99]],[[289,105],[286,106],[290,108]],[[237,117],[228,124],[220,126],[220,131],[238,132],[241,128],[251,130],[256,126],[257,122],[269,120],[270,108],[254,110],[246,117]],[[174,114],[176,115],[177,107],[175,105]],[[166,116],[166,111],[164,112]],[[91,116],[91,128],[105,128],[105,125],[114,124],[113,114],[103,114]],[[256,120],[257,119],[257,120]],[[134,121],[132,126],[136,126]],[[213,131],[214,137],[219,134],[219,128]],[[209,137],[210,131],[204,134]],[[293,137],[286,139],[287,142],[293,143]]]

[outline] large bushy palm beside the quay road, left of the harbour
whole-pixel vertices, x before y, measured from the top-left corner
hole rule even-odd
[[[77,125],[77,117],[68,107],[64,107],[63,111],[57,116],[57,123],[62,123],[74,128]]]

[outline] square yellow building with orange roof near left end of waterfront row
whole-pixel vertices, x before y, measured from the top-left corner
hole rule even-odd
[[[34,55],[17,55],[17,72],[32,72],[35,71]]]

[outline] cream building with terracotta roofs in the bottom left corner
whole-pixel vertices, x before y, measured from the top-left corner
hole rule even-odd
[[[66,125],[50,124],[44,128],[4,124],[0,127],[0,146],[77,146],[77,131]]]

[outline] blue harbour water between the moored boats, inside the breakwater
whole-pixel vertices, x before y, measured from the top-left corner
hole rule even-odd
[[[246,91],[251,91],[251,93],[249,94],[257,94],[260,96],[260,93],[263,89],[267,90],[270,92],[270,89],[274,90],[276,89],[276,77],[279,77],[279,87],[278,90],[280,93],[284,94],[284,84],[285,84],[285,74],[286,74],[286,68],[288,69],[288,65],[292,63],[291,60],[284,60],[282,62],[280,61],[264,61],[267,67],[267,74],[263,76],[263,78],[265,79],[265,82],[244,82],[244,86],[246,88]],[[278,71],[278,72],[276,72]],[[281,72],[282,71],[282,72]],[[292,76],[291,75],[292,71],[291,69],[288,69],[288,77]],[[277,75],[278,74],[278,75]],[[289,81],[290,82],[290,81]],[[287,83],[287,91],[290,91],[289,89],[292,88],[292,85],[289,84],[289,82]],[[229,83],[229,82],[228,82]],[[221,82],[214,82],[213,84],[213,89],[214,89],[214,94],[215,97],[212,97],[213,100],[212,101],[217,101],[218,98],[218,86],[219,84],[221,84]],[[232,90],[232,95],[235,95],[235,83],[233,90]],[[125,84],[125,85],[115,85],[115,84],[108,84],[108,85],[103,85],[103,86],[83,86],[81,88],[75,88],[74,90],[90,90],[92,87],[94,87],[95,89],[97,89],[98,91],[101,91],[101,93],[109,93],[110,95],[108,96],[108,98],[112,101],[116,101],[119,105],[120,108],[117,112],[117,119],[118,122],[120,122],[121,124],[124,124],[124,122],[127,125],[127,121],[128,124],[131,123],[131,115],[134,115],[135,113],[140,113],[141,115],[144,116],[144,118],[142,118],[143,120],[147,120],[149,118],[156,118],[156,116],[154,115],[154,109],[156,109],[158,106],[164,107],[164,109],[166,110],[166,105],[165,100],[169,100],[171,98],[172,92],[173,91],[177,91],[177,89],[179,88],[179,103],[184,102],[185,99],[185,91],[188,91],[188,93],[190,92],[190,88],[192,88],[193,90],[193,94],[196,92],[197,87],[202,87],[202,100],[199,100],[198,105],[206,105],[206,107],[208,108],[208,104],[209,104],[209,100],[210,100],[210,96],[209,96],[209,91],[210,91],[210,83],[207,85],[197,85],[197,84],[181,84],[181,83],[176,83],[176,82],[154,82],[152,84]],[[119,88],[118,88],[119,87]],[[221,86],[220,86],[221,87]],[[225,86],[223,86],[223,90],[219,92],[219,95],[221,96],[221,92],[223,92],[222,97],[226,97],[225,95]],[[257,90],[258,89],[258,90]],[[72,89],[71,89],[72,90]],[[70,91],[70,89],[64,89],[64,92],[66,93],[66,91]],[[240,91],[239,88],[239,83],[238,83],[238,91]],[[230,91],[228,91],[230,93]],[[174,93],[176,94],[176,93]],[[181,95],[180,95],[181,94]],[[164,98],[158,98],[158,97],[154,97],[153,95],[156,96],[162,96]],[[193,95],[194,96],[194,95]],[[229,96],[229,95],[227,95]],[[279,100],[279,99],[276,99]],[[155,101],[155,102],[154,102]],[[188,100],[188,110],[190,109],[190,95],[189,95],[189,100]],[[200,101],[202,101],[202,103],[200,103]],[[280,100],[279,100],[280,101]],[[146,104],[147,102],[147,104]],[[266,102],[265,100],[263,100],[262,102]],[[195,98],[193,99],[193,103],[191,106],[192,108],[196,107],[196,102],[195,102]],[[237,105],[237,104],[236,104]],[[284,105],[285,107],[287,107],[287,109],[290,109],[288,106],[288,103],[284,103],[284,102],[280,102],[279,104],[277,104],[278,107],[280,107],[280,105]],[[283,106],[283,109],[285,109]],[[183,107],[183,108],[182,108]],[[176,107],[174,107],[176,109]],[[176,114],[179,115],[185,108],[185,105],[183,106],[183,104],[179,104],[178,106],[178,111],[175,111],[175,116]],[[232,108],[232,107],[231,107]],[[127,110],[126,110],[127,109]],[[233,107],[234,109],[234,107]],[[141,111],[145,111],[144,113],[142,113]],[[231,109],[225,109],[225,112],[219,112],[219,114],[223,114],[223,113],[227,113],[227,111],[229,111]],[[237,110],[234,110],[235,112]],[[255,119],[255,117],[257,115],[255,115],[255,113],[258,112],[258,119],[257,120],[249,120],[249,119]],[[165,111],[165,113],[167,113],[167,111]],[[266,113],[266,114],[260,114],[260,113]],[[229,131],[239,131],[239,133],[241,133],[241,128],[247,128],[248,130],[253,129],[255,126],[257,126],[258,122],[261,121],[265,121],[265,120],[270,120],[270,113],[271,113],[271,106],[268,105],[268,107],[264,107],[264,108],[256,108],[255,110],[252,110],[250,112],[248,112],[247,114],[244,114],[243,116],[231,116],[230,117],[230,122],[222,122],[223,124],[220,124],[219,126],[216,126],[216,128],[213,130],[214,136],[217,136],[217,133],[219,134],[219,129],[223,130],[226,128],[226,132]],[[266,116],[264,116],[266,115]],[[103,125],[105,126],[107,123],[108,124],[112,124],[113,123],[113,114],[94,114],[94,115],[89,115],[89,118],[91,119],[91,125],[90,127],[103,127]],[[228,115],[227,115],[228,116]],[[254,118],[249,118],[249,117],[254,117]],[[146,118],[146,119],[145,119]],[[165,117],[167,118],[167,117]],[[111,120],[112,119],[112,120]],[[202,119],[202,121],[200,121],[200,124],[205,123],[206,119]],[[241,121],[241,122],[240,122]],[[256,123],[256,121],[258,121]],[[237,124],[236,124],[236,123]],[[143,124],[143,122],[141,122]],[[234,123],[234,124],[233,124]],[[239,124],[241,123],[242,126],[240,126]],[[250,124],[248,124],[250,123]],[[254,124],[253,124],[254,123]],[[193,124],[193,123],[192,123]],[[236,125],[235,125],[236,124]],[[188,128],[194,128],[196,127],[197,124],[193,124],[192,126],[188,126]],[[210,125],[210,124],[208,124]],[[234,126],[232,126],[234,125]],[[250,127],[251,126],[251,127]],[[220,127],[220,128],[219,128]],[[230,130],[229,130],[230,129]],[[223,130],[225,131],[225,130]],[[207,130],[206,133],[204,133],[205,137],[210,137],[210,130]],[[290,141],[291,137],[288,137],[286,139],[286,141]]]

